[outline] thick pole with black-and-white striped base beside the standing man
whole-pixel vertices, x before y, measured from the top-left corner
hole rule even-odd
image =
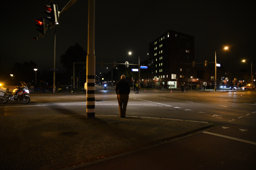
[[[89,0],[88,10],[88,55],[86,63],[86,117],[95,118],[95,0]]]

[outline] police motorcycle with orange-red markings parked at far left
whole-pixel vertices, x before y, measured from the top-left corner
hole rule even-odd
[[[0,102],[7,103],[8,101],[21,101],[24,104],[28,104],[30,97],[28,96],[28,86],[24,81],[20,81],[22,86],[15,87],[12,91],[3,88],[0,84]]]

